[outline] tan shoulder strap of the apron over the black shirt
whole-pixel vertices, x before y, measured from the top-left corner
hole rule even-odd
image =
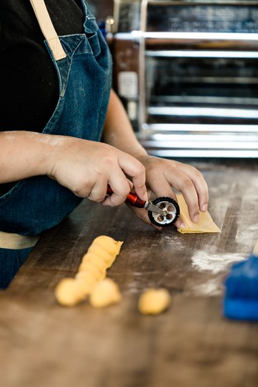
[[[47,12],[44,0],[30,0],[30,3],[32,4],[36,19],[39,21],[39,26],[45,36],[45,40],[50,46],[54,59],[58,61],[59,59],[65,58],[65,51],[63,50],[61,42],[56,34],[56,30],[54,29],[50,15]]]

